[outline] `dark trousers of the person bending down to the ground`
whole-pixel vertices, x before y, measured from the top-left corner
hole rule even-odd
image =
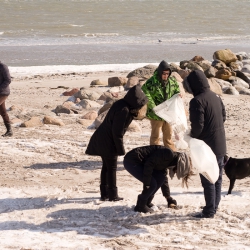
[[[143,182],[143,169],[144,166],[142,164],[134,164],[126,159],[123,161],[124,168],[137,180],[140,182]],[[142,200],[148,200],[148,198],[152,195],[154,195],[157,190],[162,186],[163,182],[165,180],[165,175],[162,171],[154,170],[152,173],[150,188],[147,190],[143,190],[140,194],[140,199]]]

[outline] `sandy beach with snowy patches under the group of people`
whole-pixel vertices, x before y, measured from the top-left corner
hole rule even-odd
[[[58,86],[88,87],[92,80],[108,81],[128,72],[95,72],[18,79],[10,87],[7,107],[11,119],[56,117],[52,111],[68,99]],[[96,87],[100,93],[107,87]],[[95,88],[93,88],[95,89]],[[191,95],[187,94],[188,107]],[[250,155],[250,98],[222,95],[227,111],[227,152],[231,157]],[[87,113],[88,110],[85,111]],[[236,180],[226,195],[229,180],[223,174],[222,200],[214,219],[194,219],[204,206],[199,176],[189,189],[170,181],[171,195],[182,206],[167,207],[158,191],[155,212],[133,211],[142,184],[123,168],[119,157],[119,202],[99,201],[101,159],[85,154],[94,130],[78,123],[84,114],[60,114],[65,126],[15,126],[14,136],[1,137],[0,243],[1,249],[250,249],[250,179]],[[91,123],[91,122],[90,122]],[[126,152],[149,144],[150,123],[138,122],[140,133],[127,132]],[[5,128],[2,120],[0,130]]]

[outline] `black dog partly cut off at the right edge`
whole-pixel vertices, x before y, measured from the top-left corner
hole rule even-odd
[[[250,176],[250,158],[236,159],[225,155],[224,163],[225,173],[230,180],[227,194],[231,194],[236,179]]]

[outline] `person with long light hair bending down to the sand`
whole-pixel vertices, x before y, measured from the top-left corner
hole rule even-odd
[[[193,174],[191,162],[185,153],[174,152],[170,148],[151,145],[135,148],[124,157],[124,168],[137,180],[143,183],[143,190],[138,195],[134,211],[141,213],[152,212],[151,203],[155,193],[162,186],[166,171],[170,177],[177,175],[183,184]]]

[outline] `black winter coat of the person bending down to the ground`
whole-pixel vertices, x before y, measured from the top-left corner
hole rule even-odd
[[[125,156],[124,160],[135,164],[143,165],[143,184],[150,185],[154,170],[160,170],[167,174],[166,170],[176,166],[178,153],[173,152],[165,146],[150,145],[132,149]]]

